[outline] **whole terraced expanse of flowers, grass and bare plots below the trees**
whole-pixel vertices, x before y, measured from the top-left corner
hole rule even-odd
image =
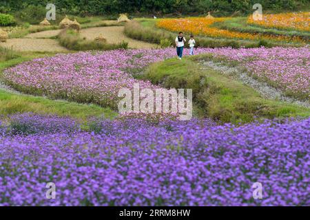
[[[0,206],[309,206],[305,19],[99,20],[0,43]]]

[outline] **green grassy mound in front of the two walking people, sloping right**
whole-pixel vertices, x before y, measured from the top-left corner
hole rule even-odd
[[[154,63],[143,78],[166,88],[193,89],[195,112],[221,122],[243,123],[264,118],[310,116],[310,109],[266,100],[254,89],[214,69],[200,69],[194,58]]]

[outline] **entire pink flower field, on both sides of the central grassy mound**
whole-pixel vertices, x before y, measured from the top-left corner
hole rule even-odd
[[[212,53],[245,67],[254,76],[298,97],[309,98],[309,47],[264,47],[254,49],[198,48],[196,54]],[[185,54],[189,54],[185,50]],[[79,52],[37,58],[6,69],[8,85],[29,94],[93,102],[116,108],[119,89],[157,88],[148,81],[135,79],[131,72],[142,72],[150,63],[172,58],[173,48],[162,50],[114,50]]]

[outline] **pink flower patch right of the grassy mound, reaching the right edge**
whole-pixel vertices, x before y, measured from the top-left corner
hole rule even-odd
[[[296,98],[310,100],[310,48],[264,47],[215,49],[225,61],[236,62],[247,72]]]

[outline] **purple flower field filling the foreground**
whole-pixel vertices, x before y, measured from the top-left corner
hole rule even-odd
[[[0,206],[310,205],[310,118],[94,119],[90,131],[51,115],[9,121],[0,122]],[[45,198],[48,182],[56,199]],[[253,199],[254,182],[263,199]]]

